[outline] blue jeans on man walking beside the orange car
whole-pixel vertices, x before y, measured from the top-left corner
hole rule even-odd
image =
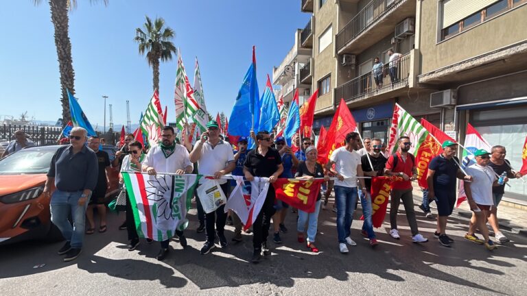
[[[82,240],[84,240],[84,227],[86,221],[86,207],[90,201],[86,199],[84,206],[79,206],[78,202],[82,195],[82,191],[75,191],[73,193],[55,190],[51,195],[51,202],[49,208],[51,210],[51,222],[53,222],[62,236],[70,242],[71,247],[75,249],[82,248]],[[71,213],[73,219],[73,226],[68,220]]]

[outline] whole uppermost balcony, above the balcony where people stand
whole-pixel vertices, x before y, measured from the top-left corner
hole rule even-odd
[[[408,17],[415,17],[414,0],[373,0],[355,15],[336,35],[336,51],[360,53],[375,45],[395,26]]]

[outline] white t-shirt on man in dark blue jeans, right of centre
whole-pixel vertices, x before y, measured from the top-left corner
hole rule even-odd
[[[346,147],[335,149],[329,158],[335,162],[335,169],[337,173],[345,179],[344,181],[335,180],[336,186],[357,187],[357,166],[361,164],[360,155],[356,151],[348,151]]]

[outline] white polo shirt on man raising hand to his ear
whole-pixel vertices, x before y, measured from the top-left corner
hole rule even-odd
[[[209,141],[201,146],[201,156],[198,160],[198,172],[200,175],[214,175],[215,172],[225,169],[229,162],[234,161],[233,147],[231,144],[220,140],[214,147]],[[205,182],[204,178],[200,179],[200,184]],[[218,183],[224,184],[227,180],[220,179]]]

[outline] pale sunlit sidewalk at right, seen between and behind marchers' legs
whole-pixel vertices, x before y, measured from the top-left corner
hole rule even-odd
[[[419,187],[414,188],[414,204],[416,208],[423,201],[423,193]],[[416,214],[423,214],[419,208],[416,209]],[[432,204],[432,214],[434,217],[437,214],[437,211]],[[470,211],[469,204],[465,201],[459,208],[454,208],[452,215],[458,215],[460,217],[470,219],[472,212]],[[527,212],[525,210],[520,210],[519,208],[513,208],[510,206],[498,206],[497,208],[497,219],[500,223],[500,230],[505,230],[508,232],[513,232],[515,234],[520,234],[527,237]]]

